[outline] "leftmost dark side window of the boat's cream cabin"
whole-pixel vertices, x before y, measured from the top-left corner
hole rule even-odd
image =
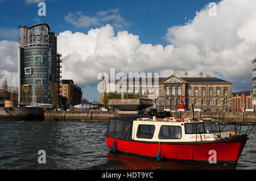
[[[155,132],[155,125],[140,124],[137,130],[137,138],[152,139]]]

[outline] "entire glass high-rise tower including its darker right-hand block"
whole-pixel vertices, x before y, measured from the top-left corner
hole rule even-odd
[[[19,30],[19,101],[27,104],[52,103],[59,94],[61,77],[57,36],[50,32],[47,23],[19,26]]]

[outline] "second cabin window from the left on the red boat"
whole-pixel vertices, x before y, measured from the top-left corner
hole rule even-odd
[[[181,127],[175,126],[161,126],[159,139],[180,139],[181,138]]]

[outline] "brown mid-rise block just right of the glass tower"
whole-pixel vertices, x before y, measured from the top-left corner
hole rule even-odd
[[[68,99],[69,106],[81,104],[82,89],[74,84],[71,79],[62,79],[60,83],[60,95]]]

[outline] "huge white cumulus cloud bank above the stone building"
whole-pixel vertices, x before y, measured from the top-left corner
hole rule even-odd
[[[170,45],[166,47],[143,44],[139,36],[127,31],[115,35],[109,24],[88,33],[61,32],[58,51],[63,54],[63,78],[85,86],[96,84],[97,74],[102,69],[109,73],[110,68],[115,73],[159,71],[162,77],[171,73],[183,77],[185,72],[199,77],[203,72],[233,81],[236,89],[249,89],[244,86],[250,85],[250,60],[256,54],[255,8],[254,0],[224,0],[217,4],[217,16],[209,16],[206,5],[189,23],[168,28],[165,38]],[[71,19],[76,26],[92,24],[82,14]]]

